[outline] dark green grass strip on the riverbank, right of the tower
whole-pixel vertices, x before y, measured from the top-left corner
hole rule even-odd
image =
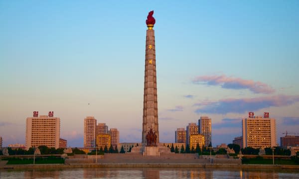
[[[242,164],[266,164],[272,165],[272,159],[243,159]],[[286,159],[275,159],[275,165],[298,165],[294,160],[286,160]]]

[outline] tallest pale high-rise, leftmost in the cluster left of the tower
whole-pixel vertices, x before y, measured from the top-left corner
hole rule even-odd
[[[87,116],[84,119],[84,147],[96,147],[97,119]]]

